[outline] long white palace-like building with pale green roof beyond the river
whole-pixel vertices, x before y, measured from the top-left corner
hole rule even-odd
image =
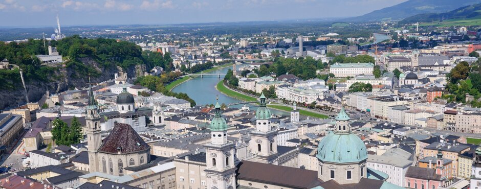
[[[373,63],[335,63],[329,68],[329,73],[337,78],[353,77],[357,75],[372,75]]]

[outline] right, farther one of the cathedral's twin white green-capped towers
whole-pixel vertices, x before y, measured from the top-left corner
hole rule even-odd
[[[277,164],[277,130],[270,124],[271,111],[266,106],[264,93],[260,95],[260,106],[255,113],[255,130],[251,132],[249,147],[262,163]]]

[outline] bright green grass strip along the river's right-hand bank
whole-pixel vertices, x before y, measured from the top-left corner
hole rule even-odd
[[[239,93],[239,92],[236,92],[234,90],[231,90],[231,89],[227,88],[224,85],[223,80],[219,81],[217,83],[217,85],[215,86],[215,88],[218,91],[224,93],[224,95],[227,95],[229,97],[232,97],[232,98],[235,98],[235,99],[238,99],[238,100],[241,100],[241,101],[245,101],[245,102],[257,101],[257,98],[250,97],[250,96],[244,95],[242,93]],[[267,106],[270,107],[270,108],[276,109],[276,110],[281,110],[281,111],[286,111],[286,112],[291,111],[291,107],[284,106],[284,105],[281,105],[281,104],[268,104]],[[329,117],[327,117],[327,115],[315,113],[315,112],[311,112],[311,111],[307,111],[307,110],[302,110],[302,109],[299,110],[299,114],[305,115],[305,116],[310,116],[310,117],[316,117],[316,118],[319,118],[319,119],[329,118]]]

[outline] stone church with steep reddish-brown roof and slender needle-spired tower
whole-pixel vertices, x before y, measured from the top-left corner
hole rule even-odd
[[[100,120],[91,87],[85,117],[90,172],[123,176],[124,168],[150,161],[150,146],[128,124],[115,122],[112,132],[102,142]]]

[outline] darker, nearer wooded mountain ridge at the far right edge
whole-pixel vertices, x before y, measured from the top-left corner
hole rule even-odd
[[[481,4],[461,7],[445,13],[424,13],[407,17],[399,23],[432,22],[447,19],[469,19],[481,16]]]

